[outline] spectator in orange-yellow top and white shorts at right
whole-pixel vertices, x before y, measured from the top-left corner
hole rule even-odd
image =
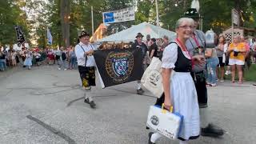
[[[238,69],[238,84],[242,84],[242,66],[245,64],[246,47],[240,42],[238,35],[234,36],[227,54],[230,55],[229,65],[231,66],[231,83],[234,83],[235,71]]]

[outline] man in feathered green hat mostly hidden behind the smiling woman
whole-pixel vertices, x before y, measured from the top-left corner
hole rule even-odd
[[[194,19],[194,31],[192,36],[186,41],[186,47],[191,55],[201,54],[204,55],[206,50],[206,37],[201,30],[196,30],[199,26],[200,16],[198,11],[194,8],[188,9],[184,17]],[[201,135],[202,136],[221,136],[224,131],[218,126],[214,126],[212,123],[208,123],[207,112],[207,89],[206,89],[206,63],[198,63],[193,66],[192,78],[197,89],[198,103],[200,107],[200,119],[201,119]]]

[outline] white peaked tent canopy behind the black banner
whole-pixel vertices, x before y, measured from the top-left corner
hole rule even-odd
[[[176,37],[176,33],[173,31],[163,29],[160,26],[151,25],[147,22],[142,22],[136,26],[131,26],[129,29],[99,39],[97,42],[134,42],[138,33],[144,35],[143,40],[146,40],[146,34],[150,34],[150,38],[163,38],[163,36],[166,35],[170,40],[173,40]]]

